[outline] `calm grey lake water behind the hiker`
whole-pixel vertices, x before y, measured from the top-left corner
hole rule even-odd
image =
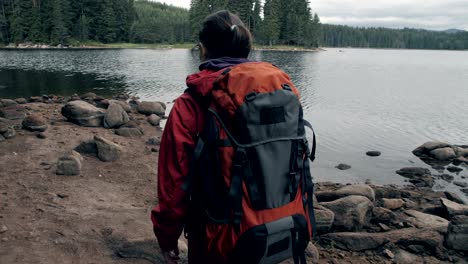
[[[302,92],[319,147],[314,176],[402,183],[395,170],[425,166],[411,150],[428,140],[468,144],[468,52],[328,49],[254,52]],[[126,91],[171,102],[197,70],[188,50],[0,51],[0,97]],[[368,150],[379,150],[377,158]],[[338,171],[338,163],[352,169]],[[461,175],[468,176],[465,169]],[[466,181],[466,180],[465,180]],[[452,189],[440,182],[436,188]]]

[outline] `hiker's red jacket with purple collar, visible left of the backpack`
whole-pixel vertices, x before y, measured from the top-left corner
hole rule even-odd
[[[190,94],[176,99],[167,120],[159,149],[158,205],[151,212],[154,233],[162,250],[177,247],[188,212],[188,193],[182,190],[195,148],[203,129],[206,99],[222,69],[246,59],[220,58],[200,65],[200,72],[187,76]]]

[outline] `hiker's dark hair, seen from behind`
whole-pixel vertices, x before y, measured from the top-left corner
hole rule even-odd
[[[252,47],[252,35],[240,18],[222,10],[205,18],[199,33],[206,48],[205,57],[247,58]]]

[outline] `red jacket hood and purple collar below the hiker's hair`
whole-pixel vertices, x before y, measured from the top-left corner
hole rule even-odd
[[[203,101],[213,89],[213,82],[219,77],[223,69],[232,67],[250,60],[245,58],[222,57],[204,61],[200,64],[200,71],[187,76],[186,84],[188,91],[196,99]]]

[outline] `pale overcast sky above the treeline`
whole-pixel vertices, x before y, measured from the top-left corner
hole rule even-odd
[[[189,8],[190,0],[156,0]],[[323,23],[468,30],[468,0],[310,0]]]

